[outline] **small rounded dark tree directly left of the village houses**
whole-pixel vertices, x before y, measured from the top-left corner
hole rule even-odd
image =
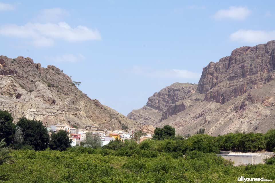
[[[68,132],[64,130],[58,130],[58,132],[51,135],[50,149],[65,151],[68,147],[71,147],[72,139],[68,136]]]

